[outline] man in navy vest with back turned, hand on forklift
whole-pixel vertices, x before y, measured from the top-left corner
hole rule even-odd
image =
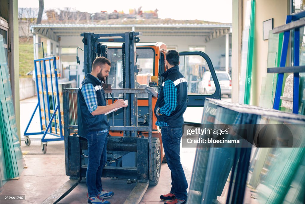
[[[154,110],[156,125],[161,128],[166,161],[171,171],[171,190],[168,194],[161,195],[160,199],[166,201],[166,204],[185,204],[188,183],[180,162],[180,140],[183,134],[183,113],[187,106],[188,85],[185,77],[179,72],[179,53],[176,50],[168,50],[165,58],[167,71],[161,74],[165,81],[160,93],[157,94],[152,87],[146,88],[158,97]]]

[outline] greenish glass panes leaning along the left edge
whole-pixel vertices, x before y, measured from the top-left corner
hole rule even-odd
[[[6,180],[19,177],[23,166],[7,53],[0,35],[0,187]]]

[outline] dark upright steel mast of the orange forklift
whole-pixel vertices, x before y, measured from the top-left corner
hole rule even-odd
[[[140,39],[138,36],[141,36],[140,32],[125,32],[123,34],[94,34],[84,32],[81,34],[84,43],[84,69],[83,72],[85,76],[87,73],[90,73],[92,70],[92,63],[96,57],[106,57],[108,48],[107,45],[103,43],[109,42],[121,42],[122,45],[122,62],[123,62],[123,88],[135,89],[137,78],[137,72],[140,72],[139,66],[136,65],[136,42],[139,42]],[[127,63],[129,62],[129,63]],[[106,84],[108,79],[106,81]],[[111,85],[110,85],[111,86]],[[107,86],[106,86],[107,87]],[[136,117],[132,110],[137,107],[137,100],[131,97],[131,94],[127,94],[126,99],[129,102],[129,106],[126,108],[126,125],[132,126],[136,123]],[[126,135],[125,135],[126,134]],[[124,132],[124,136],[133,136],[137,135],[136,132]]]

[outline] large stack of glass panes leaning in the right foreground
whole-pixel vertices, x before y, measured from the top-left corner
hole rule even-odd
[[[300,124],[292,132],[301,135],[298,144],[304,147],[305,117],[302,115],[215,99],[206,99],[204,107],[202,124],[238,125],[241,131],[249,124]],[[296,199],[304,202],[300,195],[305,184],[305,176],[300,174],[305,170],[304,148],[269,149],[275,154],[269,154],[266,148],[258,148],[251,156],[248,147],[198,147],[187,203],[293,203]],[[267,155],[257,157],[254,169],[248,169],[250,158],[261,155],[262,151]],[[253,186],[249,185],[250,180]]]

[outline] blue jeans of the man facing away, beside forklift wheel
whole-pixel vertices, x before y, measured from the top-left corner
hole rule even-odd
[[[182,127],[172,128],[165,126],[161,128],[162,144],[166,156],[168,168],[171,172],[171,190],[176,198],[186,200],[188,193],[188,183],[180,162],[180,140],[182,137]]]

